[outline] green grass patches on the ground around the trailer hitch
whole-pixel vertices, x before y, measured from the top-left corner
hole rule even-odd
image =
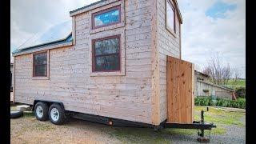
[[[217,128],[211,130],[211,134],[226,134],[225,126],[245,126],[240,119],[245,116],[245,112],[242,110],[229,111],[226,108],[219,109],[217,107],[209,107],[209,111],[205,112],[205,121],[207,123],[214,122]],[[195,120],[200,120],[201,110],[206,111],[206,106],[195,106]],[[118,138],[122,142],[130,143],[170,143],[170,135],[194,135],[196,136],[198,130],[186,130],[186,129],[170,129],[166,128],[155,132],[150,128],[126,128],[126,127],[114,127],[114,132],[111,130],[112,136]],[[209,131],[206,130],[206,134]]]

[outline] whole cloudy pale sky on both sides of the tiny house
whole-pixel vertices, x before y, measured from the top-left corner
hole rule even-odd
[[[71,31],[69,12],[97,1],[10,0],[10,51],[65,38]],[[183,18],[182,59],[203,70],[218,53],[245,78],[246,1],[178,0],[178,6]]]

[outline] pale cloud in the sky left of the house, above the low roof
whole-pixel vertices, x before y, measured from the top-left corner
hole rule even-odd
[[[10,51],[59,23],[71,21],[70,11],[98,0],[10,0]],[[13,58],[11,57],[11,61]]]

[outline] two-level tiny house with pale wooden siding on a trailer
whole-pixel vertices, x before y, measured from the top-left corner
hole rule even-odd
[[[168,90],[167,56],[181,58],[176,0],[101,0],[70,17],[66,38],[13,52],[14,102],[33,105],[39,120],[55,124],[71,111],[158,126],[173,114],[169,105],[188,117],[174,122],[193,122],[193,88]],[[168,102],[168,92],[190,97]]]

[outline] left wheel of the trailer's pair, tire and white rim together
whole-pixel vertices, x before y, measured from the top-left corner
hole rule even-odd
[[[49,107],[46,102],[37,102],[37,104],[34,106],[35,117],[39,121],[46,121],[48,119],[48,110]]]

